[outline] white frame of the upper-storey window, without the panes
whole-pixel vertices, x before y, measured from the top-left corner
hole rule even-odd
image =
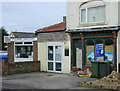
[[[88,8],[95,8],[95,7],[100,7],[100,6],[105,6],[106,9],[106,5],[99,5],[99,6],[91,6],[91,7],[86,7],[86,8],[81,8],[80,9],[80,24],[85,24],[85,23],[102,23],[102,22],[106,22],[106,16],[105,16],[105,21],[96,21],[96,22],[88,22]],[[81,15],[81,10],[85,9],[86,10],[86,22],[82,22],[82,15]],[[105,10],[106,11],[106,10]],[[106,12],[105,12],[106,15]]]

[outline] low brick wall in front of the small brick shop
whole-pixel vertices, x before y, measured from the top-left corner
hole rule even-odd
[[[2,60],[2,74],[20,74],[40,71],[40,61],[9,63],[8,60]]]

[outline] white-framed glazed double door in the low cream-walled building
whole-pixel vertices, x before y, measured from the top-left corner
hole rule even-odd
[[[62,71],[62,46],[59,43],[48,43],[47,70],[52,72]]]

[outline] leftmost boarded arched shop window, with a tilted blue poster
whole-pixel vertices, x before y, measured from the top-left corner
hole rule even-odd
[[[91,61],[94,61],[94,41],[89,39],[86,45],[86,65],[90,65]]]

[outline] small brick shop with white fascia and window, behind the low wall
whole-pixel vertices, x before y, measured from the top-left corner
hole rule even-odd
[[[8,43],[9,63],[38,61],[37,37],[34,33],[11,32]]]

